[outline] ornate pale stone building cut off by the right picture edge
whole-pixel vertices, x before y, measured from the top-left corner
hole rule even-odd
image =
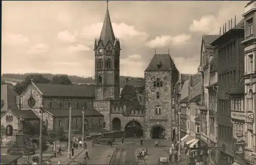
[[[245,110],[245,161],[246,164],[256,164],[256,2],[251,1],[245,7],[244,48],[244,109]],[[240,112],[241,113],[241,112]]]

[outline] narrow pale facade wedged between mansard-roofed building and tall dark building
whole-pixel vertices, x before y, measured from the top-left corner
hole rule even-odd
[[[218,56],[209,60],[209,86],[206,86],[209,94],[209,135],[208,146],[217,147],[218,127],[217,127],[217,94],[218,94]],[[210,150],[209,163],[216,164],[217,152]]]

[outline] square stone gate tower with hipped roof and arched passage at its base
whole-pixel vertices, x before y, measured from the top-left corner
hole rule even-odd
[[[145,131],[147,139],[171,134],[172,97],[179,72],[168,54],[155,54],[145,70]]]

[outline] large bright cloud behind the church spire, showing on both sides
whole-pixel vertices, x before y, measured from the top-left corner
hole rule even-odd
[[[86,38],[93,44],[92,38],[99,38],[103,23],[92,24],[91,26],[85,26],[80,32],[82,38]],[[137,46],[144,42],[148,35],[145,32],[140,32],[132,25],[125,23],[112,23],[115,37],[119,38],[121,44],[126,46]]]

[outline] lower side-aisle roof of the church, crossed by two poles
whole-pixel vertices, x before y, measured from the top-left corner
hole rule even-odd
[[[55,117],[68,117],[69,109],[46,109],[50,114]],[[72,109],[71,115],[74,116],[82,116],[82,109]],[[103,116],[101,113],[94,109],[86,109],[84,111],[85,117],[93,117],[93,116]]]

